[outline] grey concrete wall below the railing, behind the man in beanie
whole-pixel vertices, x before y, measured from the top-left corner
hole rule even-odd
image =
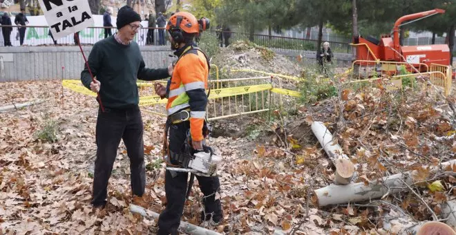
[[[83,46],[88,57],[91,46]],[[160,68],[171,63],[173,57],[168,46],[142,46],[146,67]],[[1,61],[3,59],[3,66]],[[122,58],[120,58],[122,59]],[[77,46],[23,46],[0,47],[0,82],[30,79],[79,79],[84,59]]]

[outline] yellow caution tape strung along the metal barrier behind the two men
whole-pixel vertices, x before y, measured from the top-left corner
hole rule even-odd
[[[64,80],[62,81],[62,85],[71,91],[75,91],[77,93],[81,93],[84,95],[90,96],[97,96],[96,93],[88,90],[85,86],[82,86],[82,83],[79,80]],[[149,86],[146,85],[146,86]],[[290,95],[294,97],[300,97],[301,93],[298,91],[291,91],[283,88],[272,88],[271,84],[260,84],[260,85],[252,85],[252,86],[236,86],[236,87],[229,87],[229,88],[220,88],[220,89],[211,89],[211,93],[209,95],[209,99],[218,99],[222,97],[231,97],[236,95],[246,95],[249,93],[257,93],[260,91],[271,91],[274,93],[278,93],[281,95]],[[168,99],[162,99],[158,95],[148,95],[140,97],[140,106],[149,106],[155,104],[166,104]]]

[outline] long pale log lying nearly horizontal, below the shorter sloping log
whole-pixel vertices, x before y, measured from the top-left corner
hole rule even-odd
[[[442,167],[456,164],[456,160],[441,163]],[[435,173],[433,169],[430,173]],[[397,173],[392,176],[386,176],[379,180],[371,180],[368,183],[358,182],[350,185],[328,185],[326,187],[314,190],[319,207],[327,205],[337,205],[343,203],[355,203],[363,200],[381,198],[386,194],[396,194],[402,190],[408,190],[407,185],[413,184],[412,176],[417,171],[408,171],[406,173]],[[404,184],[407,184],[405,185]]]

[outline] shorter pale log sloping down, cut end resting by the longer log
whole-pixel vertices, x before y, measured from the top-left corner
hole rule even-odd
[[[343,154],[341,146],[333,141],[331,132],[323,122],[312,122],[311,128],[321,147],[336,167],[334,182],[337,185],[348,185],[354,176],[354,164],[348,156]]]

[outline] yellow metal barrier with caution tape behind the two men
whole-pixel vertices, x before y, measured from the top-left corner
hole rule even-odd
[[[236,79],[211,79],[207,104],[207,119],[220,120],[239,115],[265,113],[277,106],[290,106],[294,100],[283,98],[299,97],[297,91],[280,87],[274,88],[274,77],[245,77]],[[158,82],[166,83],[160,80]],[[95,93],[82,86],[79,80],[63,80],[62,85],[77,93],[95,96]],[[155,115],[167,116],[166,99],[153,92],[152,82],[137,82],[140,87],[140,106],[142,110]]]

